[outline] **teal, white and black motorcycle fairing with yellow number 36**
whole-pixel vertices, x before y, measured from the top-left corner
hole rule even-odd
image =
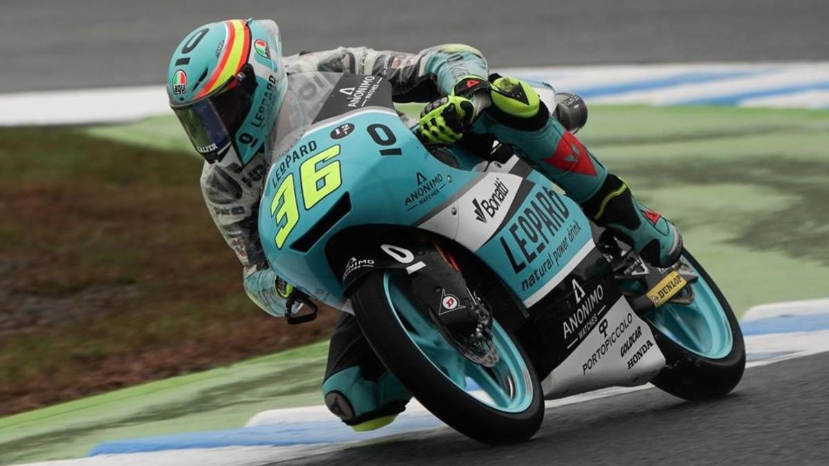
[[[370,101],[366,92],[365,99],[352,100],[357,87],[352,84],[360,81],[350,79],[322,79],[323,88],[331,86],[331,97],[318,102],[312,124],[280,121],[285,130],[280,127],[271,152],[259,209],[259,233],[274,270],[316,299],[342,308],[342,276],[326,255],[334,235],[371,225],[430,231],[477,255],[529,313],[549,317],[545,335],[558,359],[540,374],[547,377],[547,396],[649,381],[664,358],[653,347],[628,367],[629,357],[618,353],[623,342],[630,342],[628,347],[652,342],[647,324],[633,314],[618,287],[584,314],[588,287],[570,283],[590,277],[604,261],[579,206],[517,158],[473,170],[472,157],[454,151],[458,167],[441,162],[401,123],[390,98]],[[375,84],[373,92],[383,92],[382,83]],[[332,105],[339,113],[329,112]],[[574,292],[577,286],[583,293]],[[556,297],[570,300],[569,307]],[[568,333],[563,325],[579,308],[577,328]],[[613,341],[604,343],[606,338]],[[583,368],[597,349],[604,359],[597,356],[589,370]]]

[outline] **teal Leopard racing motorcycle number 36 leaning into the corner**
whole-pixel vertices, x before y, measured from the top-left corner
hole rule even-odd
[[[529,439],[545,399],[739,382],[739,325],[687,250],[647,265],[507,148],[421,143],[382,77],[300,73],[287,92],[259,234],[288,308],[305,304],[288,323],[312,298],[353,313],[427,409],[486,444]]]

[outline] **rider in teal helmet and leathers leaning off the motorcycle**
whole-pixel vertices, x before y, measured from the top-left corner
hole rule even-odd
[[[680,255],[676,228],[642,206],[551,116],[536,90],[521,80],[490,76],[481,52],[471,46],[434,46],[418,54],[339,47],[283,57],[273,21],[213,22],[177,46],[167,94],[196,151],[206,159],[201,189],[213,221],[244,266],[245,290],[274,316],[284,315],[293,286],[264,258],[257,211],[269,168],[265,146],[275,142],[271,129],[287,92],[284,78],[304,71],[384,76],[395,102],[432,101],[419,121],[426,140],[453,143],[470,131],[494,136],[562,187],[599,225],[633,245],[644,260],[667,266]],[[468,100],[474,97],[467,89],[490,94],[492,105],[474,114]],[[410,399],[348,313],[341,313],[332,335],[322,391],[328,408],[355,430],[388,424]]]

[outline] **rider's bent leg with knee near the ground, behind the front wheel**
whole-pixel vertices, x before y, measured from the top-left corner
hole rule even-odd
[[[331,337],[322,394],[328,409],[357,431],[388,425],[411,398],[348,313],[341,314]]]

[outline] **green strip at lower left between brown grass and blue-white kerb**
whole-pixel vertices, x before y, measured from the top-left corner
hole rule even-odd
[[[327,342],[0,419],[0,464],[85,456],[106,439],[243,425],[317,405]]]

